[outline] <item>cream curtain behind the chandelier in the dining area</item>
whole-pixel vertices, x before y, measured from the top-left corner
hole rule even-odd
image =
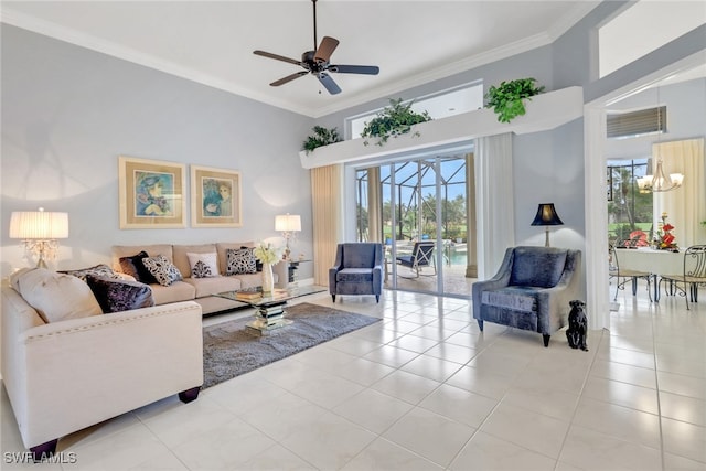
[[[662,222],[662,213],[674,226],[680,248],[706,244],[706,170],[704,165],[704,138],[652,144],[652,162],[662,158],[665,173],[682,173],[681,188],[654,193],[654,227]]]

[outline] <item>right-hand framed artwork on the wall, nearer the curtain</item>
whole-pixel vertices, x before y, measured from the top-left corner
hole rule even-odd
[[[191,165],[192,227],[242,227],[240,172]]]

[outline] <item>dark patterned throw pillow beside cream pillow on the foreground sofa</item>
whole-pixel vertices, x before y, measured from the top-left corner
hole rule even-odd
[[[152,288],[148,285],[90,274],[86,276],[86,282],[105,314],[154,306]]]

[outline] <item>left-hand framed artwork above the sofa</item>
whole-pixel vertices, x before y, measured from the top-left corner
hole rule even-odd
[[[118,175],[121,229],[185,227],[183,163],[120,156]]]

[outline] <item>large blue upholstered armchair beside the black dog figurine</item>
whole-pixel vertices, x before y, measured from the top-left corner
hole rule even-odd
[[[579,299],[580,250],[514,247],[505,251],[498,274],[473,283],[473,318],[538,332],[544,346],[567,324],[569,301]]]

